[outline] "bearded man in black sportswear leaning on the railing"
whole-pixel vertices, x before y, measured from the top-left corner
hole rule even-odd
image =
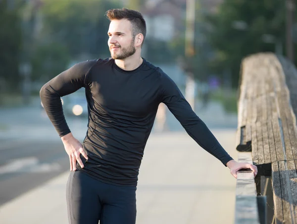
[[[71,224],[135,224],[136,186],[141,160],[160,103],[180,121],[207,152],[230,168],[237,163],[199,119],[175,83],[141,57],[146,22],[129,9],[107,11],[111,58],[80,62],[45,84],[44,108],[70,160],[67,182]],[[166,35],[164,33],[164,35]],[[88,131],[81,144],[65,121],[60,97],[84,87],[88,101]]]

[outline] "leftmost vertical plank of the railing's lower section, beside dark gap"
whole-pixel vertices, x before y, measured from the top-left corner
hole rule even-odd
[[[281,191],[281,180],[278,162],[271,163],[271,178],[272,178],[272,189],[273,189],[273,201],[274,201],[274,215],[276,223],[280,223],[284,220],[283,203],[282,203],[282,191]]]

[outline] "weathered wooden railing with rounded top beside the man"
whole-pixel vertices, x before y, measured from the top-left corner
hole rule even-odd
[[[237,179],[237,192],[248,192],[253,200],[246,200],[249,209],[240,213],[243,199],[237,193],[235,223],[297,224],[297,70],[271,53],[248,56],[241,64],[239,93],[239,160],[241,152],[249,153],[258,175],[254,181],[250,173]],[[246,178],[248,187],[239,190]],[[249,222],[252,214],[258,218]]]

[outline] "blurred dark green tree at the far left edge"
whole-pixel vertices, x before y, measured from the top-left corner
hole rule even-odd
[[[19,56],[21,51],[20,5],[0,0],[0,91],[19,90]],[[10,88],[13,86],[13,89]],[[3,90],[5,88],[5,90]]]

